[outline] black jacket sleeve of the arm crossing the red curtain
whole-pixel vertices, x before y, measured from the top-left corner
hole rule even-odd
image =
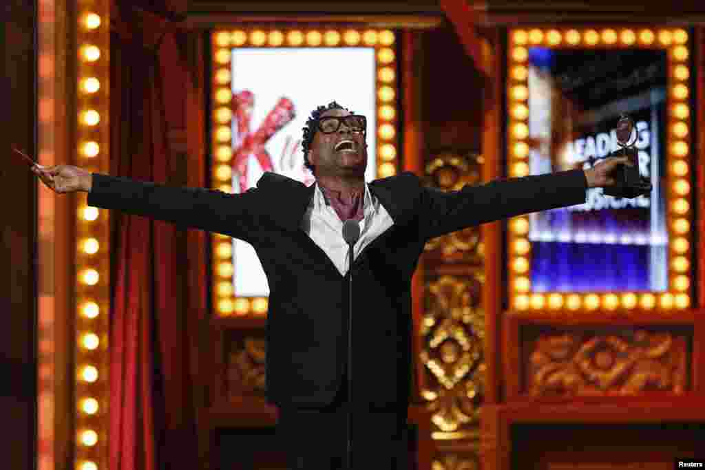
[[[199,228],[241,240],[252,240],[259,229],[258,190],[228,194],[218,190],[172,187],[92,173],[87,204],[125,214]]]

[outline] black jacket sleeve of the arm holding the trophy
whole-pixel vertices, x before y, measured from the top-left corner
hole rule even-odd
[[[424,187],[420,226],[425,240],[481,223],[585,202],[582,170],[495,180],[444,192]]]

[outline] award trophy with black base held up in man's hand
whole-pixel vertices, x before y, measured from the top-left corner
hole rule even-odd
[[[618,167],[615,171],[615,185],[603,188],[603,194],[631,199],[640,194],[651,192],[649,180],[639,175],[639,156],[637,149],[635,149],[637,130],[632,118],[622,113],[617,122],[615,132],[617,134],[617,144],[621,148],[615,151],[613,156],[626,155],[632,161],[633,166],[622,165]]]

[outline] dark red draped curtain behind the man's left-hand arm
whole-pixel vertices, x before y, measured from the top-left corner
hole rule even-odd
[[[185,45],[194,36],[129,7],[113,10],[110,174],[193,183],[186,146],[174,151],[173,135],[185,140],[187,92],[195,87]],[[111,221],[109,470],[197,469],[192,237],[118,211]]]

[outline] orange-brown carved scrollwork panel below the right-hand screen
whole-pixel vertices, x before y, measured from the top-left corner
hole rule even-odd
[[[525,342],[531,395],[630,395],[688,388],[686,333],[553,332]]]

